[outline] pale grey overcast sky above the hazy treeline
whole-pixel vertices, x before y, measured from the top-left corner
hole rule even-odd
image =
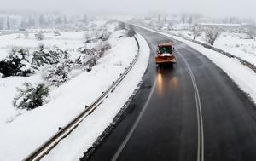
[[[193,12],[211,16],[256,19],[256,0],[0,0],[0,9],[60,11],[66,14],[112,13],[147,14],[150,12]]]

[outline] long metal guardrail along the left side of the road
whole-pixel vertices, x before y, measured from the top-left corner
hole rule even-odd
[[[85,110],[81,112],[76,118],[73,118],[71,122],[69,122],[65,127],[60,129],[55,135],[53,135],[51,138],[49,138],[48,141],[45,141],[40,147],[35,149],[32,153],[30,153],[26,158],[24,158],[24,161],[32,161],[32,160],[40,160],[45,155],[47,155],[50,150],[52,150],[61,140],[67,137],[73,129],[76,129],[79,124],[89,116],[98,106],[100,106],[104,99],[108,98],[109,93],[112,93],[113,90],[119,85],[119,83],[125,78],[125,76],[131,71],[132,67],[137,62],[138,56],[140,54],[140,45],[138,43],[137,37],[135,37],[135,40],[137,42],[137,55],[130,63],[130,66],[125,68],[125,72],[120,74],[120,77],[113,82],[111,87],[107,89],[105,92],[102,92],[102,95],[100,95],[96,101],[94,101],[90,106],[85,106]]]

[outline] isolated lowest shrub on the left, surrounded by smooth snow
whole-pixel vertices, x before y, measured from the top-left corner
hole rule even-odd
[[[17,90],[18,95],[15,96],[13,104],[17,108],[26,110],[42,106],[49,95],[49,88],[44,83],[38,85],[24,83],[24,88]]]

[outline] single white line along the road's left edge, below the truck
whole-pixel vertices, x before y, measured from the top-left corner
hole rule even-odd
[[[122,144],[120,145],[119,149],[117,152],[115,152],[115,154],[113,155],[113,158],[111,159],[111,161],[115,161],[117,160],[117,158],[119,158],[119,155],[120,153],[123,151],[123,149],[125,148],[125,145],[127,144],[127,142],[130,140],[131,138],[131,135],[133,134],[133,132],[135,131],[135,129],[137,128],[137,124],[140,122],[141,118],[143,117],[143,113],[145,112],[147,106],[148,106],[148,103],[153,95],[153,92],[154,92],[154,89],[155,89],[155,86],[156,86],[156,78],[154,79],[154,84],[150,90],[150,93],[148,95],[148,99],[145,103],[145,105],[143,106],[143,109],[142,111],[140,112],[139,116],[137,117],[137,120],[135,121],[135,123],[132,125],[128,135],[126,135],[125,137],[125,140],[122,142]]]

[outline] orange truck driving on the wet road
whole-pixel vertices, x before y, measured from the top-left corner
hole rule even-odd
[[[176,63],[176,57],[173,55],[174,48],[172,42],[158,43],[156,51],[155,63],[161,64],[174,64]]]

